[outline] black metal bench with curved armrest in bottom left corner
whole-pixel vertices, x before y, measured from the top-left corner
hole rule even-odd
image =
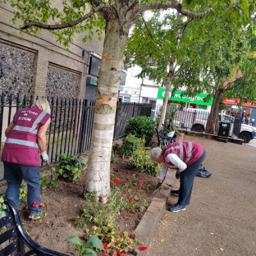
[[[17,207],[12,200],[5,200],[6,209],[1,211],[0,218],[0,256],[7,255],[51,255],[68,256],[40,246],[28,236],[22,223]]]

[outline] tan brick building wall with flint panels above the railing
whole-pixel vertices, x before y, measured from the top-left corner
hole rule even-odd
[[[53,3],[57,8],[60,8],[62,1],[56,0]],[[2,77],[0,75],[0,92],[9,90],[12,87],[11,84],[17,84],[15,77],[18,76],[20,68],[15,67],[19,64],[21,70],[26,70],[26,72],[30,74],[30,77],[26,78],[26,85],[24,85],[21,90],[29,92],[31,95],[45,95],[46,90],[50,88],[49,83],[47,85],[47,74],[49,76],[50,63],[51,67],[56,65],[61,69],[61,72],[66,72],[66,77],[73,77],[73,79],[68,79],[68,86],[70,86],[70,90],[72,90],[72,95],[83,98],[88,71],[89,52],[93,51],[101,55],[103,40],[99,41],[97,38],[94,38],[92,42],[83,44],[82,38],[84,35],[76,35],[74,41],[70,44],[69,51],[67,51],[56,42],[56,37],[49,31],[39,31],[36,35],[29,35],[24,32],[20,33],[18,28],[21,23],[18,21],[17,24],[13,24],[12,21],[10,21],[12,15],[10,5],[8,3],[4,4],[3,1],[1,1],[0,51],[2,51],[1,54],[3,54],[3,58],[5,58],[5,63],[13,63],[13,65],[8,67],[10,68],[10,71],[8,71],[10,74],[7,75],[3,73]],[[83,49],[86,50],[84,57],[82,57]],[[13,57],[10,52],[16,52],[16,55],[14,54],[15,56]],[[23,56],[24,59],[17,58],[20,52],[23,52],[22,54],[25,56]],[[26,61],[26,58],[28,58],[29,61]],[[17,63],[19,60],[20,63]],[[0,73],[1,65],[3,65],[4,61],[0,58]],[[53,83],[51,86],[51,93],[59,92],[54,89]],[[67,86],[67,83],[65,86]],[[77,93],[75,93],[74,90],[76,90]]]

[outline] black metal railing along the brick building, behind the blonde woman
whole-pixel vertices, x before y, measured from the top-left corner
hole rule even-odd
[[[48,98],[51,106],[51,124],[47,132],[47,152],[51,162],[58,161],[60,154],[74,156],[90,148],[95,100]],[[33,97],[1,95],[0,101],[0,152],[5,141],[4,129],[12,121],[18,108],[30,107]],[[114,139],[124,134],[132,116],[150,116],[151,104],[122,103],[116,106]]]

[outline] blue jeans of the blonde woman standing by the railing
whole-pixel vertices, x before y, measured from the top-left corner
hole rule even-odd
[[[28,185],[28,208],[31,214],[41,212],[40,205],[33,207],[34,202],[40,204],[40,167],[4,162],[4,179],[8,183],[5,198],[19,207],[20,184],[22,179]]]

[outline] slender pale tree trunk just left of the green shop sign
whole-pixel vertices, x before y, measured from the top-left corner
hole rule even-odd
[[[173,72],[174,72],[174,61],[171,59],[170,65],[169,65],[168,77],[167,77],[167,81],[166,81],[166,89],[165,89],[165,93],[164,93],[163,106],[161,108],[161,115],[160,115],[159,123],[158,123],[158,128],[162,127],[163,126],[162,124],[164,124],[167,103],[168,103],[168,99],[169,99],[169,95],[170,95],[170,88],[172,85]]]

